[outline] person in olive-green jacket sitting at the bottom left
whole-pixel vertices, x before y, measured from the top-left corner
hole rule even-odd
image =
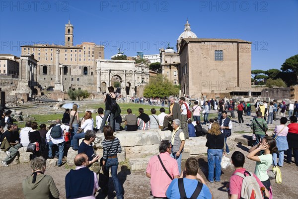
[[[58,199],[59,191],[51,176],[45,175],[46,160],[37,157],[30,161],[33,174],[23,180],[22,187],[26,199]]]

